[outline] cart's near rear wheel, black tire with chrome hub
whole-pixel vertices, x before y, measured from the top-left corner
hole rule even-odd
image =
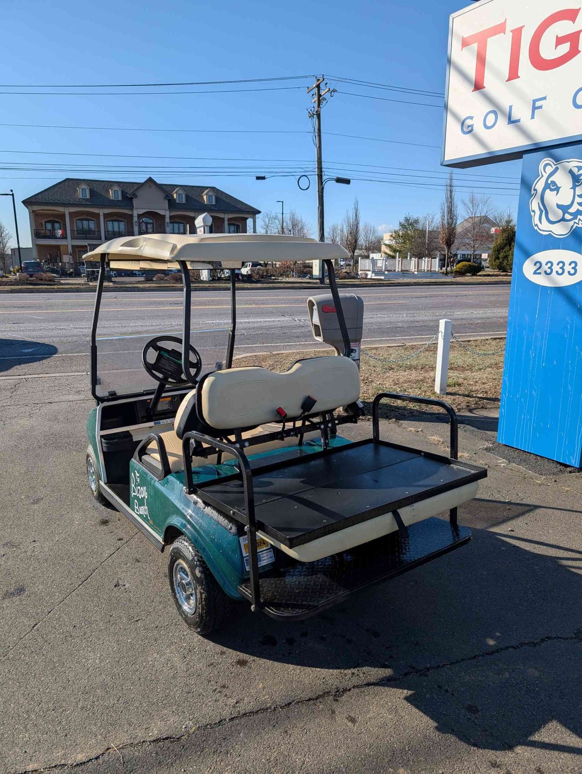
[[[179,614],[197,634],[207,635],[223,625],[233,602],[184,535],[175,539],[169,550],[168,580]]]

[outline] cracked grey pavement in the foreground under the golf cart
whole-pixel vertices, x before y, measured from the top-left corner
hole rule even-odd
[[[582,474],[505,461],[493,413],[466,416],[461,454],[490,471],[469,546],[201,639],[164,555],[90,497],[87,392],[0,385],[2,772],[580,772]],[[430,419],[383,433],[442,450]]]

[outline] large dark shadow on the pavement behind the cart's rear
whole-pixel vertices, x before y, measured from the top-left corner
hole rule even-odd
[[[305,621],[241,607],[213,640],[279,663],[383,670],[369,684],[410,691],[438,731],[477,748],[582,753],[532,740],[552,723],[582,737],[582,551],[488,531],[537,507],[474,501],[460,514],[468,546]]]

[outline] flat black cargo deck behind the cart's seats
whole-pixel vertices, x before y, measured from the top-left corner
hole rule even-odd
[[[253,467],[257,529],[290,548],[487,475],[464,461],[371,439]],[[239,474],[199,485],[197,494],[247,524]]]

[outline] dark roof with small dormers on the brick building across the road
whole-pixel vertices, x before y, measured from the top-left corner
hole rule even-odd
[[[183,183],[158,183],[153,178],[148,178],[155,183],[162,191],[168,196],[168,209],[169,210],[196,210],[200,212],[232,212],[232,213],[251,213],[258,215],[260,210],[256,207],[251,207],[250,204],[237,199],[236,197],[226,194],[226,191],[220,190],[215,186],[210,187],[210,190],[216,194],[214,204],[206,204],[203,198],[203,194],[206,190],[209,190],[209,186],[187,186]],[[53,186],[49,186],[38,194],[32,194],[32,196],[22,200],[22,204],[56,204],[59,206],[82,206],[82,207],[121,207],[125,209],[132,209],[134,191],[138,189],[145,180],[140,183],[127,182],[124,180],[87,180],[86,178],[66,177],[61,180],[60,183],[55,183]],[[77,189],[80,185],[86,185],[90,190],[90,199],[80,199],[77,194]],[[121,189],[121,199],[111,199],[109,191],[112,187],[117,186]],[[176,188],[184,191],[185,202],[177,202],[172,196],[173,191]]]

